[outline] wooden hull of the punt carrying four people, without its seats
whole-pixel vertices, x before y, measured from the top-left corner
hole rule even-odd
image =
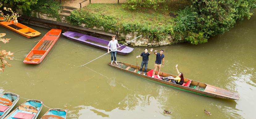
[[[122,63],[122,62],[119,62],[119,63]],[[129,67],[134,67],[136,69],[136,65],[132,65],[132,64],[129,64],[129,63],[125,63],[125,64],[129,65]],[[204,88],[204,90],[197,90],[197,89],[191,88],[189,86],[182,86],[182,85],[178,85],[178,84],[175,84],[175,83],[163,81],[163,80],[160,80],[160,79],[157,79],[157,78],[152,78],[151,76],[142,75],[142,74],[137,73],[136,71],[129,71],[127,69],[121,68],[120,66],[116,65],[115,63],[113,63],[112,65],[110,63],[108,63],[108,65],[111,66],[111,67],[117,68],[121,71],[125,71],[125,72],[130,73],[130,74],[138,75],[142,78],[145,78],[145,79],[148,79],[148,80],[160,83],[160,84],[164,84],[164,85],[167,85],[167,86],[171,86],[171,87],[174,87],[174,88],[177,88],[177,89],[180,89],[180,90],[186,90],[186,91],[189,91],[189,92],[192,92],[192,93],[196,93],[196,94],[200,94],[200,95],[204,95],[204,96],[208,96],[208,97],[233,99],[233,100],[238,100],[239,99],[239,94],[237,94],[236,92],[228,91],[228,90],[225,90],[225,89],[222,89],[222,88],[219,88],[219,87],[216,87],[216,86],[212,86],[212,85],[209,85],[209,84],[198,82],[198,84],[200,84],[200,85],[203,85],[203,86],[205,85],[205,88]],[[140,69],[140,66],[137,66],[137,69]],[[142,70],[144,70],[144,68],[142,68]],[[151,71],[151,69],[148,68],[147,72],[148,71]],[[155,72],[155,74],[157,74],[157,71]],[[171,74],[161,72],[161,71],[160,71],[159,75],[163,76],[163,77],[167,77],[167,76],[176,77],[176,75],[171,75]],[[189,80],[191,80],[191,79],[184,78],[185,83],[187,83]],[[196,83],[197,81],[192,80],[192,82]]]

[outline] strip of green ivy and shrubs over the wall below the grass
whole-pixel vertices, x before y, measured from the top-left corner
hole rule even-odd
[[[100,28],[102,26],[105,31],[112,30],[112,32],[124,34],[138,32],[139,34],[148,35],[150,40],[162,40],[165,39],[168,34],[174,34],[172,25],[162,26],[157,24],[153,27],[147,23],[118,23],[118,20],[113,16],[91,13],[83,10],[72,11],[70,16],[67,17],[67,20],[72,25],[81,25],[84,23],[87,28],[93,28],[94,26]]]

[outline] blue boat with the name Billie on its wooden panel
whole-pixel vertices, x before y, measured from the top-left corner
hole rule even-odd
[[[49,109],[41,119],[66,119],[67,110],[65,109]]]

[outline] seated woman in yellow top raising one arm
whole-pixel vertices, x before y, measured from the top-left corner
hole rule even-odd
[[[170,82],[170,80],[171,80],[172,83],[182,85],[184,83],[183,73],[178,70],[178,68],[177,68],[178,64],[176,64],[175,67],[176,67],[176,71],[178,72],[178,76],[176,76],[176,78],[174,78],[172,76],[168,76],[168,77],[163,77],[163,78],[161,77],[161,79],[164,81],[168,81],[168,82]]]

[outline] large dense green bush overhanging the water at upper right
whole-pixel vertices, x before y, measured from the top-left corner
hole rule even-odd
[[[256,0],[191,1],[192,6],[181,10],[176,19],[175,35],[183,33],[192,44],[205,43],[209,36],[225,33],[237,20],[249,19],[256,8]]]

